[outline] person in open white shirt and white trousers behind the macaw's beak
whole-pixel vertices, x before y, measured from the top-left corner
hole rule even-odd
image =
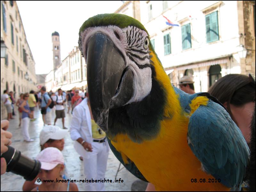
[[[88,97],[88,92],[86,92]],[[85,97],[73,111],[70,125],[70,136],[76,152],[83,157],[84,177],[93,180],[104,179],[107,168],[109,145],[106,137],[95,139],[91,113]],[[94,122],[95,124],[95,122]],[[102,131],[103,132],[103,131]],[[102,134],[99,132],[99,134]],[[98,134],[98,135],[99,135]],[[104,133],[105,134],[105,133]],[[85,191],[104,191],[104,183],[85,183]]]

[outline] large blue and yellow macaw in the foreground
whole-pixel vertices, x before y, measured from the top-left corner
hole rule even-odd
[[[131,173],[163,191],[241,187],[249,148],[239,128],[208,93],[171,85],[139,21],[96,15],[78,44],[94,120]]]

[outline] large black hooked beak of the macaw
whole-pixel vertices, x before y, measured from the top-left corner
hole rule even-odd
[[[108,131],[110,109],[121,107],[133,96],[133,73],[109,37],[95,33],[86,44],[87,83],[92,115]]]

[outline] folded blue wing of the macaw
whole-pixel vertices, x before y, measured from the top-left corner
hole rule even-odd
[[[192,95],[193,96],[193,95]],[[190,117],[189,146],[204,169],[227,187],[239,187],[244,178],[249,148],[227,111],[209,100]]]

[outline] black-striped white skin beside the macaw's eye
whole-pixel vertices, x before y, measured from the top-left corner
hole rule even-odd
[[[141,29],[133,26],[127,29],[126,36],[127,36],[126,55],[140,69],[150,67],[150,63],[147,62],[148,60],[150,60],[150,56],[149,56],[148,49],[145,50],[143,47],[145,37],[142,35]]]

